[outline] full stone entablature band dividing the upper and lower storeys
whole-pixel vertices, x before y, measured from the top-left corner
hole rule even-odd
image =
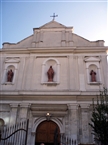
[[[57,101],[57,102],[67,102],[67,103],[71,103],[71,102],[82,102],[82,101],[89,101],[92,103],[92,98],[95,98],[95,100],[97,99],[97,94],[99,94],[99,92],[4,92],[1,96],[1,100],[2,102],[7,101],[8,102],[15,102],[18,101],[19,104],[21,103],[20,101],[24,101],[26,100],[27,103],[30,103],[31,101],[33,101],[32,103],[35,102],[44,102],[47,101]],[[31,104],[31,103],[30,103]]]

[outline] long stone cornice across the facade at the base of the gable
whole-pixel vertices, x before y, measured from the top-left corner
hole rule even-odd
[[[22,54],[22,53],[93,53],[106,52],[108,47],[101,46],[81,46],[81,47],[51,47],[51,48],[3,48],[2,53]]]

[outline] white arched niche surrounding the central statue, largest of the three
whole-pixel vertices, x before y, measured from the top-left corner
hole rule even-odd
[[[50,66],[52,66],[54,70],[54,78],[53,82],[48,82],[47,71]],[[60,63],[55,58],[47,58],[42,64],[42,78],[41,84],[59,84],[60,83]]]

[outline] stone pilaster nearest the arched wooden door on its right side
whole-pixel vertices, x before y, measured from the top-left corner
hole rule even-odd
[[[68,104],[69,109],[69,126],[70,126],[70,137],[77,144],[77,104]]]

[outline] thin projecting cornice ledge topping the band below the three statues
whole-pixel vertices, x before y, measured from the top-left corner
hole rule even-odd
[[[35,95],[40,95],[40,96],[82,96],[82,95],[97,95],[99,94],[99,91],[91,90],[91,91],[73,91],[73,90],[55,90],[55,91],[42,91],[42,90],[36,90],[36,91],[6,91],[2,90],[0,95],[4,96],[35,96]]]

